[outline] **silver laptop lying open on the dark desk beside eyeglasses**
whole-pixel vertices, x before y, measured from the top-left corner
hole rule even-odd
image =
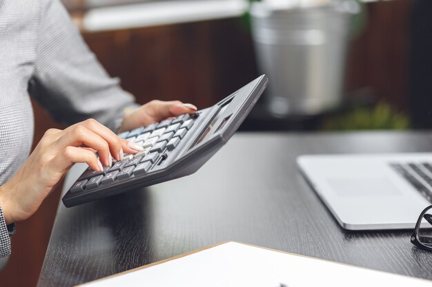
[[[432,200],[432,153],[306,155],[306,178],[348,230],[412,229]]]

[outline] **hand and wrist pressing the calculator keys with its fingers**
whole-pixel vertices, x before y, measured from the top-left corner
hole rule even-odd
[[[137,151],[96,120],[85,120],[64,130],[48,129],[21,169],[0,187],[6,223],[26,220],[35,213],[73,163],[86,162],[99,171],[102,165],[111,165],[112,158],[121,160],[123,152]]]

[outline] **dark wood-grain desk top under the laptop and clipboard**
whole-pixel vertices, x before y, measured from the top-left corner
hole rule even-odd
[[[432,279],[432,253],[413,247],[411,232],[342,230],[295,165],[303,153],[432,151],[431,139],[237,134],[193,176],[60,204],[38,286],[73,286],[224,240]]]

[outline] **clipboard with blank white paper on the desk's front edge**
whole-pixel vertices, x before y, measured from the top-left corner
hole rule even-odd
[[[76,287],[113,286],[420,287],[432,286],[432,281],[251,244],[221,242]]]

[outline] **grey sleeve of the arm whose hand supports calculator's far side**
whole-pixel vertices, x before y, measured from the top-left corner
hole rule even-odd
[[[135,98],[90,52],[59,0],[41,0],[32,96],[55,120],[71,125],[95,118],[113,131]]]

